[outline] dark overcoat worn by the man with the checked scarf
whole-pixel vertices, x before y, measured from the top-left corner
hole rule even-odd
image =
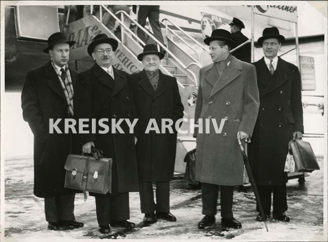
[[[70,69],[73,89],[77,73]],[[58,127],[63,134],[49,134],[49,119],[69,118],[68,104],[56,71],[49,61],[31,69],[22,90],[23,118],[34,135],[34,195],[49,198],[72,193],[65,189],[67,155],[73,152],[72,134],[64,134],[64,120]]]

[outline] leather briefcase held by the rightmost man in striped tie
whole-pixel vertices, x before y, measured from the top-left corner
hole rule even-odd
[[[291,140],[289,147],[295,161],[295,172],[312,172],[320,169],[309,142]]]

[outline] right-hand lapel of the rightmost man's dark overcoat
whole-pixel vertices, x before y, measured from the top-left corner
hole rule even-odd
[[[277,69],[273,75],[273,78],[269,80],[269,82],[267,83],[263,95],[279,88],[281,85],[283,85],[285,82],[289,80],[289,77],[290,77],[290,70],[287,64],[282,58],[278,57]]]

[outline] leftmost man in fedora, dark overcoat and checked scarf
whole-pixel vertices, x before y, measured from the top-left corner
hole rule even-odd
[[[34,135],[34,195],[44,198],[50,230],[79,228],[74,217],[73,190],[64,188],[65,161],[72,153],[72,134],[49,134],[50,118],[74,117],[73,95],[77,73],[69,68],[70,47],[61,32],[48,38],[50,61],[31,69],[22,90],[23,118]],[[64,130],[64,120],[58,127]]]

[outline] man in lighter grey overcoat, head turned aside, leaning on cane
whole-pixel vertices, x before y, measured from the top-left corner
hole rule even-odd
[[[236,43],[224,29],[213,30],[205,38],[212,64],[200,69],[195,122],[202,119],[202,130],[195,129],[195,179],[202,183],[202,213],[198,228],[214,224],[220,186],[221,223],[240,228],[233,216],[234,186],[242,185],[244,163],[238,139],[250,138],[256,121],[259,97],[254,66],[232,56]],[[205,133],[205,119],[217,124],[224,119],[221,133],[210,127]]]

